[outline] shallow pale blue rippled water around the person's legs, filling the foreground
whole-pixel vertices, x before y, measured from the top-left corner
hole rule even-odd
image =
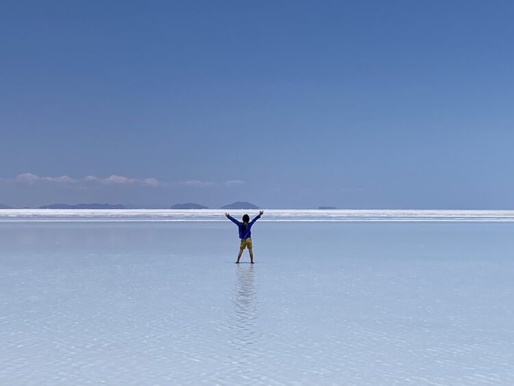
[[[3,222],[0,384],[511,385],[513,231]]]

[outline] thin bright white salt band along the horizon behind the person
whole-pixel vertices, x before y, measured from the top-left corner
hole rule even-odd
[[[0,209],[0,222],[223,222],[226,211],[236,217],[258,213],[253,209]],[[514,222],[514,210],[266,209],[266,215],[260,221]]]

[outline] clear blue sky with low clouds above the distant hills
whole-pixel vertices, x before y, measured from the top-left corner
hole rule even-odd
[[[513,17],[500,0],[3,2],[0,203],[514,208]]]

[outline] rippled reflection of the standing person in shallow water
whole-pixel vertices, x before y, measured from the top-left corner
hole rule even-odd
[[[235,336],[232,343],[238,351],[237,361],[241,365],[248,365],[256,354],[252,350],[252,345],[256,342],[257,319],[254,265],[238,265],[236,276],[236,293],[233,298]]]

